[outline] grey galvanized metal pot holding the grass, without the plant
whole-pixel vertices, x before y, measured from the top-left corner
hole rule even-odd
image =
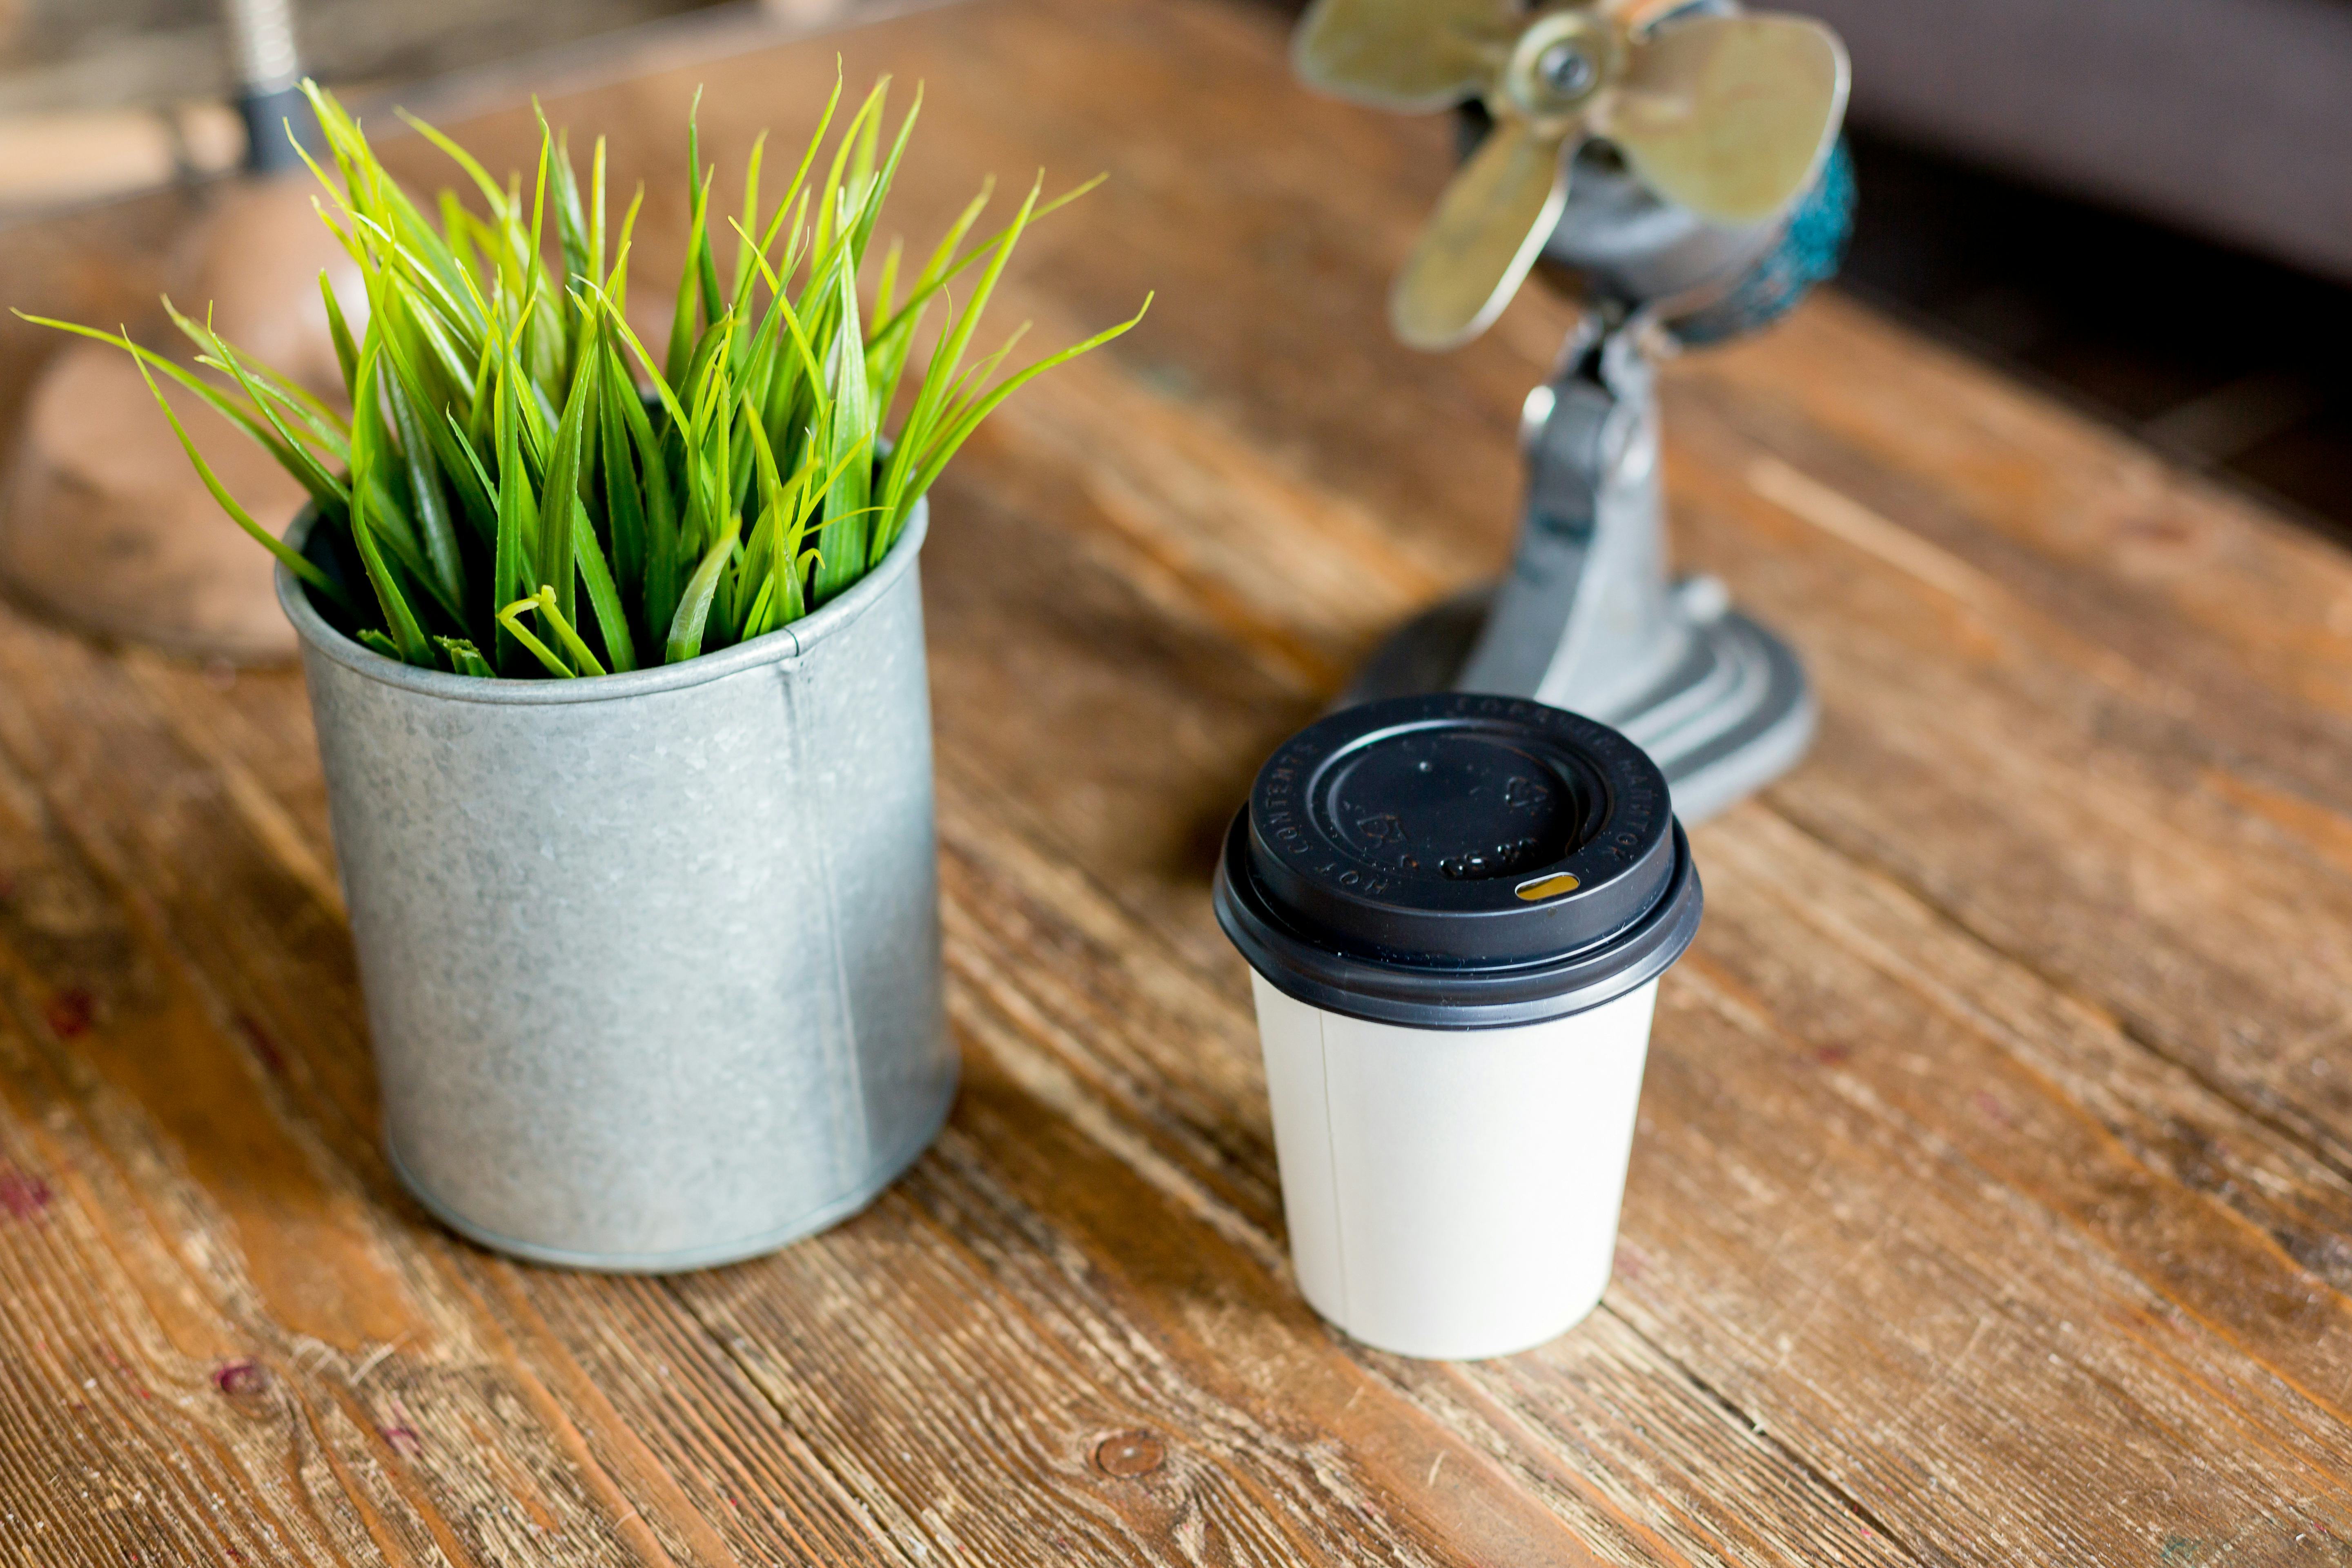
[[[278,569],[386,1143],[452,1229],[694,1269],[856,1213],[938,1133],[924,524],[790,628],[588,679],[379,658]]]

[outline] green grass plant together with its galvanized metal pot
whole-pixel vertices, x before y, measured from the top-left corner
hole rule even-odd
[[[560,1265],[701,1267],[830,1225],[955,1088],[915,555],[978,421],[1134,324],[1004,378],[1011,341],[971,350],[1025,226],[1084,186],[971,240],[983,190],[920,266],[891,244],[868,303],[915,125],[884,141],[887,78],[828,155],[835,85],[774,200],[762,139],[724,223],[689,118],[656,357],[602,141],[583,188],[541,118],[536,172],[501,186],[412,120],[480,197],[428,216],[306,92],[320,216],[365,277],[365,322],[322,280],[348,416],[176,310],[216,378],[49,324],[120,341],[310,494],[273,538],[181,430],[278,555],[393,1164],[454,1229]]]

